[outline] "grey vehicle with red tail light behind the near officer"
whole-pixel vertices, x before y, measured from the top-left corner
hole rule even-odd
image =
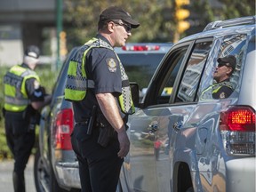
[[[130,76],[130,81],[141,82],[147,88],[164,54],[172,47],[166,44],[126,44],[116,48],[116,52]],[[52,103],[41,113],[39,148],[36,152],[34,175],[36,190],[41,191],[79,191],[80,179],[78,163],[70,143],[74,119],[71,103],[64,100],[64,87],[68,72],[68,61],[74,48],[63,63],[59,77],[52,92]],[[142,97],[142,89],[140,98]]]

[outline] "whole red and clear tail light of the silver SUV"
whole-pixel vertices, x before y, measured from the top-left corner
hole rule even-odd
[[[255,156],[255,110],[236,106],[220,114],[220,132],[229,155]]]

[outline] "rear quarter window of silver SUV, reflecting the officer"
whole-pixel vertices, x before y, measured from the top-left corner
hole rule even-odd
[[[227,79],[222,79],[218,81],[216,76],[220,76],[221,68],[225,69],[225,62],[216,60],[215,68],[213,68],[212,85],[204,89],[201,95],[201,100],[211,100],[211,99],[225,99],[230,97],[232,92],[236,89],[236,85],[239,81],[239,74],[241,71],[242,60],[244,56],[244,51],[246,48],[246,35],[232,35],[225,36],[223,42],[220,45],[220,53],[217,59],[235,57],[236,67],[233,68],[231,76]],[[228,64],[229,66],[229,64]],[[227,68],[226,68],[227,69]],[[210,78],[210,77],[209,77]]]

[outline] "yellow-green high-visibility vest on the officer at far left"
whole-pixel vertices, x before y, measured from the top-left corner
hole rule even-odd
[[[12,67],[4,76],[4,108],[12,112],[20,112],[27,108],[30,100],[26,92],[26,80],[36,78],[36,72],[20,65]]]

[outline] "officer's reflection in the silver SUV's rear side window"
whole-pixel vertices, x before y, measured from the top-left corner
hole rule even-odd
[[[230,83],[230,76],[236,68],[236,57],[234,55],[228,55],[219,58],[217,61],[218,66],[213,74],[213,78],[217,84],[213,86],[212,97],[214,99],[224,99],[228,98],[234,91]]]

